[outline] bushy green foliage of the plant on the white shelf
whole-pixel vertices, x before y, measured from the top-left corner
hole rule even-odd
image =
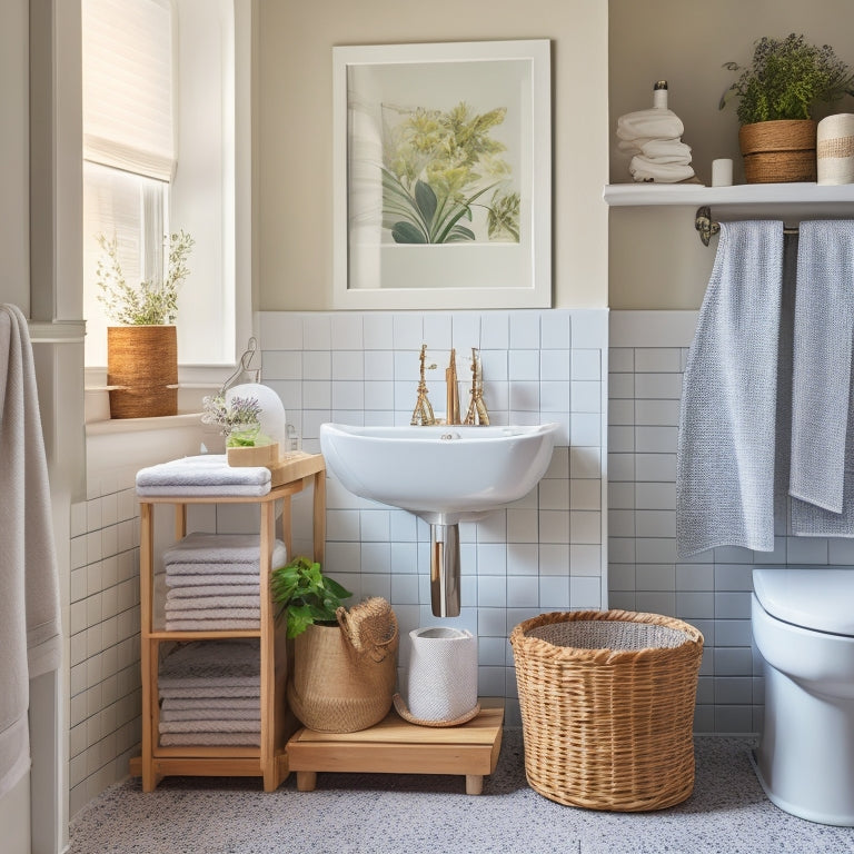
[[[785,39],[758,39],[749,67],[725,62],[724,68],[741,73],[721,97],[718,108],[738,98],[742,125],[810,119],[815,105],[834,103],[854,89],[854,72],[830,44],[808,44],[794,32]]]

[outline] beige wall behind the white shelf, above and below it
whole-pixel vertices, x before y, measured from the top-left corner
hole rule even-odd
[[[614,150],[617,117],[652,106],[655,80],[669,83],[669,106],[683,120],[694,169],[711,183],[712,160],[731,157],[735,182],[744,181],[735,109],[717,109],[733,73],[724,62],[749,62],[753,42],[802,32],[832,44],[854,64],[851,0],[609,1],[610,181],[625,182],[626,161]],[[834,112],[854,111],[846,98]],[[815,116],[821,119],[824,113]],[[716,241],[703,247],[694,231],[694,208],[615,208],[609,217],[612,308],[693,309],[703,299]],[[714,211],[713,211],[714,214]]]

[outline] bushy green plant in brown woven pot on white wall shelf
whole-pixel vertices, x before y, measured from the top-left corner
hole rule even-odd
[[[836,103],[854,89],[854,72],[828,44],[808,44],[794,32],[785,39],[755,42],[749,67],[726,62],[741,72],[718,105],[738,99],[738,143],[747,183],[815,181],[817,105]]]

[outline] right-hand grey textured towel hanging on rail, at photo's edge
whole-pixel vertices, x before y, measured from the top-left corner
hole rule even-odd
[[[854,221],[802,222],[792,384],[792,530],[854,536]]]

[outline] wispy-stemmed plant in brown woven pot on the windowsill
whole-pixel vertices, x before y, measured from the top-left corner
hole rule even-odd
[[[193,239],[185,231],[169,237],[165,278],[126,281],[116,237],[98,235],[103,250],[96,280],[98,300],[116,324],[107,328],[107,385],[110,417],[145,418],[178,411],[178,290],[189,276]]]

